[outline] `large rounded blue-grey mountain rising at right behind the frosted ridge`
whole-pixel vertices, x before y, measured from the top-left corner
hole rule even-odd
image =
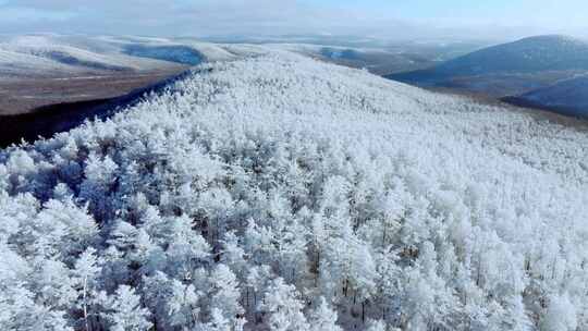
[[[588,42],[538,36],[488,47],[427,70],[388,77],[425,87],[518,95],[588,71]]]

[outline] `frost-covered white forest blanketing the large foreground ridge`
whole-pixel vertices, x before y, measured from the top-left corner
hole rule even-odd
[[[269,51],[0,151],[2,330],[588,330],[588,133]]]

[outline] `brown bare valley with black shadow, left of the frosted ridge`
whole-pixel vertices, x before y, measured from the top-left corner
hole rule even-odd
[[[148,91],[182,76],[177,71],[149,74],[21,79],[0,95],[0,148],[71,130],[87,119],[108,118]],[[5,84],[5,82],[3,83]],[[1,86],[1,85],[0,85]],[[23,96],[30,95],[32,98]]]

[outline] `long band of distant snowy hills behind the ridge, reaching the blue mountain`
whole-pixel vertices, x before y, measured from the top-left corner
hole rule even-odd
[[[466,53],[479,46],[469,44],[416,45],[401,42],[383,46],[338,46],[331,38],[322,44],[304,44],[293,38],[256,40],[254,44],[206,42],[194,38],[152,38],[137,36],[75,35],[0,35],[0,52],[19,57],[9,61],[0,57],[0,75],[35,75],[38,73],[79,73],[81,71],[152,71],[170,65],[196,65],[201,62],[233,60],[264,53],[268,48],[287,50],[345,66],[367,69],[379,75],[429,68]],[[354,39],[355,40],[355,39]],[[280,41],[280,42],[275,42]],[[296,42],[292,42],[296,41]],[[315,40],[318,42],[319,40]],[[41,62],[39,62],[41,61]],[[24,62],[27,65],[19,65]]]

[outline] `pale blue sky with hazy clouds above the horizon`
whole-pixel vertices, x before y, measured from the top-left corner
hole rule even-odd
[[[588,36],[586,0],[0,0],[0,33]]]

